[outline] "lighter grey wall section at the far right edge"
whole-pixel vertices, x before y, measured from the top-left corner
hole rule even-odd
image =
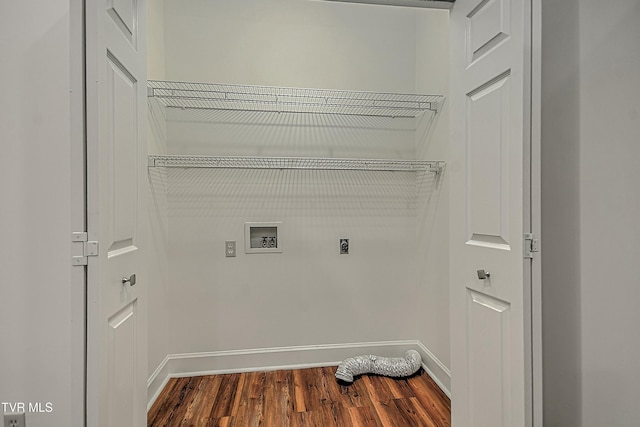
[[[640,3],[580,1],[582,425],[640,419]],[[559,143],[560,141],[556,141]]]

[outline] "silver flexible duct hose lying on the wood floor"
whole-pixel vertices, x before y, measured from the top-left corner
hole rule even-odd
[[[378,374],[388,377],[408,377],[422,365],[422,357],[415,350],[408,350],[404,357],[380,357],[369,354],[344,360],[336,370],[336,378],[348,383],[361,374]]]

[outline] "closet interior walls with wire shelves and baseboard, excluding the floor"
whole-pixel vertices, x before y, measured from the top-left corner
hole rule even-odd
[[[448,12],[147,9],[149,404],[407,349],[449,393]]]

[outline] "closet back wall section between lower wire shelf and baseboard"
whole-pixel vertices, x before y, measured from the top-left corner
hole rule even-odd
[[[404,175],[171,170],[175,351],[413,339],[415,184]],[[247,221],[282,221],[283,252],[245,254]]]

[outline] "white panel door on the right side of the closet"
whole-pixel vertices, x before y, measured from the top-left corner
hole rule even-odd
[[[531,425],[530,284],[523,259],[530,17],[526,0],[457,0],[451,11],[447,169],[456,427]]]

